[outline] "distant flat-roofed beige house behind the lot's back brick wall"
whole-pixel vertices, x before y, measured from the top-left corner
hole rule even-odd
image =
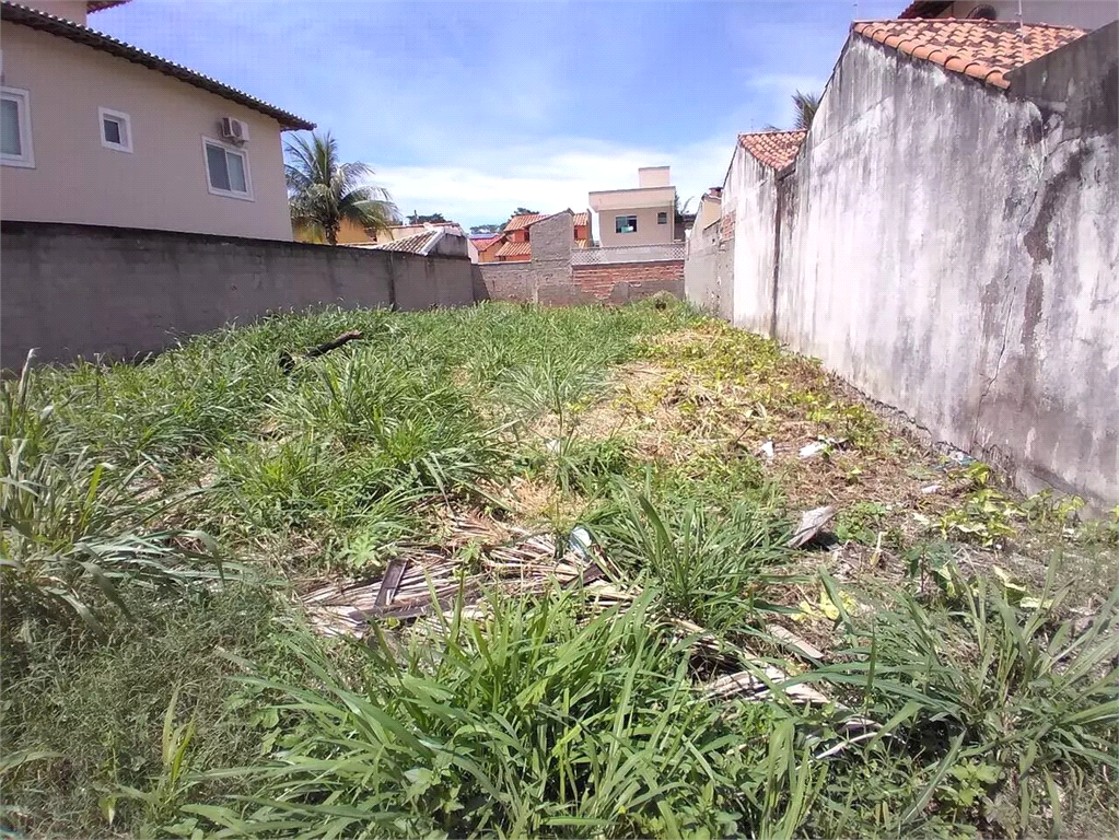
[[[603,247],[660,245],[676,239],[676,188],[668,167],[637,170],[637,189],[603,190],[589,195],[599,214]]]

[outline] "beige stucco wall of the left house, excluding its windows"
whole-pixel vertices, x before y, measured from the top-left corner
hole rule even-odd
[[[290,240],[280,124],[123,58],[0,25],[3,84],[28,91],[35,168],[0,170],[0,218]],[[98,107],[126,113],[132,152],[101,143]],[[248,124],[252,200],[211,195],[203,136]]]

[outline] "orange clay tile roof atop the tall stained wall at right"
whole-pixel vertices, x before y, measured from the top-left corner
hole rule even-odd
[[[867,21],[852,31],[996,87],[1010,86],[1008,72],[1084,35],[1072,27],[952,18]]]

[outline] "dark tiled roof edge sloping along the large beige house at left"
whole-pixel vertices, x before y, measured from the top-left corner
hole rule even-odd
[[[157,73],[171,76],[180,82],[186,82],[188,85],[194,85],[195,87],[200,87],[204,91],[209,91],[210,93],[217,94],[218,96],[229,100],[231,102],[236,102],[238,105],[244,105],[253,111],[271,116],[273,120],[279,122],[283,129],[305,129],[310,131],[314,128],[314,123],[308,122],[307,120],[295,116],[294,114],[290,114],[286,111],[281,111],[274,105],[269,105],[266,102],[262,102],[255,96],[250,96],[243,91],[224,85],[217,79],[204,76],[200,73],[195,73],[182,65],[168,62],[166,58],[160,58],[157,55],[138,47],[133,47],[124,41],[119,41],[116,38],[111,38],[107,35],[96,31],[95,29],[90,29],[81,23],[75,23],[73,20],[66,20],[65,18],[59,18],[55,15],[47,15],[46,12],[37,9],[29,9],[26,6],[19,6],[18,3],[12,3],[8,0],[3,0],[3,2],[0,3],[0,18],[10,23],[20,23],[21,26],[38,29],[39,31],[48,32],[49,35],[56,35],[59,38],[66,38],[67,40],[75,41],[76,44],[84,44],[87,47],[100,49],[102,53],[107,53],[109,55],[116,56],[117,58],[123,58],[128,62],[148,67]]]

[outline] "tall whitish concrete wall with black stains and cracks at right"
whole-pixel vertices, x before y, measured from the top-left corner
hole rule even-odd
[[[1009,93],[852,38],[787,183],[777,298],[793,349],[1096,509],[1119,502],[1116,36]]]

